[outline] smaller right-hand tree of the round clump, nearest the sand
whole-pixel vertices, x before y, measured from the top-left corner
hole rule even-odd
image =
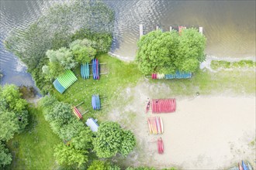
[[[133,148],[136,145],[136,140],[133,132],[131,131],[123,131],[122,137],[123,142],[120,148],[120,152],[122,155],[126,156],[130,153],[130,151],[133,151]]]

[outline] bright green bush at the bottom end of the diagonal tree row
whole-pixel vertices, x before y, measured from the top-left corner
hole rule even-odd
[[[78,165],[78,167],[81,167],[81,165],[88,162],[88,151],[86,150],[77,150],[72,146],[60,144],[57,145],[54,151],[54,156],[60,165]]]

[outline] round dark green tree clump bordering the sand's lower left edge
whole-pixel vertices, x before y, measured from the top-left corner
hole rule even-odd
[[[92,143],[99,158],[110,158],[118,152],[128,155],[135,146],[135,138],[132,132],[123,131],[116,122],[105,122],[99,126]]]

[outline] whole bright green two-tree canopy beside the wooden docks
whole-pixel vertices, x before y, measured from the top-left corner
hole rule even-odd
[[[144,74],[195,72],[205,59],[206,38],[196,29],[149,32],[137,43],[137,63]]]

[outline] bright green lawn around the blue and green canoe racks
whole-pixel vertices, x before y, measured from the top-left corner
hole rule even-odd
[[[92,94],[99,93],[99,96],[102,97],[102,105],[110,107],[111,102],[114,101],[116,95],[119,95],[121,90],[129,85],[136,85],[140,77],[143,77],[142,73],[137,69],[137,65],[134,63],[126,63],[107,54],[96,56],[96,58],[99,59],[100,63],[107,63],[101,66],[101,73],[107,72],[108,74],[101,75],[100,80],[93,80],[92,76],[88,80],[83,80],[79,66],[74,70],[74,74],[78,77],[77,82],[63,94],[58,93],[55,89],[52,90],[52,93],[58,100],[65,101],[69,104],[76,105],[84,101],[85,103],[78,107],[81,112],[89,110],[85,114],[84,120],[88,117],[97,117],[102,113],[101,110],[92,109]]]

